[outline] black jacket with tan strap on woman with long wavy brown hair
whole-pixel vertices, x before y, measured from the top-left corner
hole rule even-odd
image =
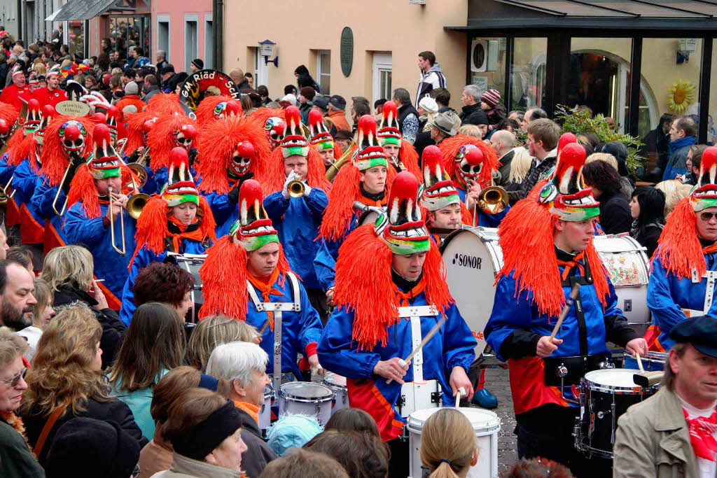
[[[62,426],[62,424],[64,424],[66,421],[74,419],[77,416],[83,416],[88,419],[98,419],[101,421],[114,421],[115,423],[119,424],[124,431],[126,431],[130,436],[132,436],[138,441],[140,448],[147,444],[148,440],[144,436],[142,436],[142,431],[135,423],[132,411],[130,411],[130,408],[127,406],[126,403],[117,399],[113,399],[106,402],[90,400],[87,403],[87,407],[85,411],[82,412],[82,414],[72,414],[72,408],[67,408],[65,416],[62,416],[62,418],[57,419],[54,426],[52,426],[52,430],[50,430],[49,434],[47,435],[47,439],[45,440],[44,446],[42,447],[42,452],[38,459],[38,461],[43,467],[47,464],[47,452],[49,451],[50,446],[52,446],[52,439],[54,439],[55,433],[57,432],[57,430],[60,429],[60,426]],[[40,409],[37,405],[33,406],[29,413],[22,414],[22,422],[25,424],[27,440],[29,441],[30,446],[32,446],[33,449],[35,448],[37,439],[42,433],[42,429],[44,428],[47,419],[48,417],[44,416],[40,412]]]

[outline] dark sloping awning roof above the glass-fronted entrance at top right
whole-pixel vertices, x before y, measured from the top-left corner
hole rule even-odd
[[[717,29],[714,0],[468,0],[461,32],[523,29]]]

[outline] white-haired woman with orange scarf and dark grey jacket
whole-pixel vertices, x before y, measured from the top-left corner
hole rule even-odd
[[[244,424],[242,440],[247,451],[242,454],[244,471],[258,477],[267,463],[277,458],[262,440],[259,430],[259,410],[264,403],[264,388],[269,385],[266,368],[269,356],[257,344],[232,342],[219,345],[209,356],[206,373],[224,383],[224,396],[234,401]],[[250,418],[251,417],[251,418]]]

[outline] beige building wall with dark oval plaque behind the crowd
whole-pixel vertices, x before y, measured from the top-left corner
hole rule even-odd
[[[285,2],[227,0],[224,71],[238,66],[245,72],[254,72],[254,48],[258,42],[276,42],[279,67],[271,63],[267,66],[267,87],[273,98],[282,95],[285,85],[296,83],[293,72],[299,64],[305,64],[318,80],[315,52],[311,50],[331,50],[331,93],[346,97],[350,105],[351,96],[371,99],[373,53],[391,52],[391,87],[405,87],[414,102],[419,80],[417,54],[430,50],[446,73],[452,106],[460,107],[467,37],[446,32],[443,27],[465,25],[467,2],[426,3],[305,0],[288,6]],[[353,68],[348,77],[341,72],[339,45],[343,27],[353,30]]]

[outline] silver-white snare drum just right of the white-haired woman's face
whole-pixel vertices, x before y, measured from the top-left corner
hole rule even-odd
[[[284,383],[279,389],[279,416],[315,416],[320,426],[331,418],[331,388],[311,382]]]

